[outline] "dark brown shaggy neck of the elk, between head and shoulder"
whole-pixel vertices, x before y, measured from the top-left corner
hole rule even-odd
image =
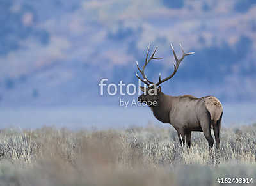
[[[159,93],[156,106],[151,106],[154,116],[163,123],[170,123],[170,111],[172,109],[172,97]]]

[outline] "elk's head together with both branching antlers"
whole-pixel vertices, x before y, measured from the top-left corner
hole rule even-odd
[[[145,59],[145,63],[144,66],[142,68],[142,70],[140,69],[139,65],[138,65],[138,61],[136,62],[136,65],[138,67],[138,70],[140,71],[141,75],[143,78],[141,78],[137,73],[136,76],[138,77],[138,79],[140,79],[140,81],[144,82],[148,87],[140,87],[141,91],[143,91],[144,93],[142,95],[140,95],[140,97],[138,97],[138,101],[139,102],[145,102],[146,104],[149,105],[149,102],[157,102],[159,100],[159,96],[161,95],[161,86],[159,86],[162,82],[167,81],[168,79],[171,79],[173,77],[173,75],[176,74],[179,65],[181,63],[181,61],[185,58],[185,56],[194,54],[195,52],[189,52],[186,53],[184,52],[184,49],[182,47],[182,45],[180,44],[181,50],[182,50],[182,57],[180,59],[177,58],[177,55],[173,49],[173,45],[171,45],[172,51],[173,51],[173,56],[175,58],[175,63],[174,63],[174,70],[173,73],[171,75],[169,75],[168,77],[161,79],[161,73],[159,73],[159,81],[157,83],[154,83],[152,81],[149,81],[147,76],[145,75],[145,68],[148,65],[148,63],[152,60],[152,59],[163,59],[163,58],[155,58],[154,54],[156,53],[157,48],[154,50],[154,52],[152,53],[151,57],[148,59],[148,53],[149,53],[149,49],[150,49],[150,45],[148,46],[148,50],[147,50],[147,55],[146,55],[146,59]]]

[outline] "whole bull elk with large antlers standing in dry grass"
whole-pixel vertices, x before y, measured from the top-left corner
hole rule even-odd
[[[170,96],[164,94],[161,90],[161,86],[159,86],[161,83],[168,81],[173,77],[173,75],[176,74],[180,63],[185,58],[185,56],[194,54],[194,52],[184,52],[181,44],[180,47],[182,49],[183,55],[180,59],[178,59],[173,46],[171,45],[173,56],[176,61],[174,63],[173,73],[164,79],[161,79],[161,74],[159,74],[159,81],[154,83],[148,80],[144,70],[152,59],[162,58],[154,57],[154,54],[157,50],[156,48],[152,53],[152,56],[148,59],[148,52],[150,49],[150,46],[148,46],[143,68],[141,69],[138,65],[138,62],[136,62],[138,70],[140,71],[143,78],[140,77],[137,73],[136,76],[142,82],[147,84],[147,88],[140,87],[141,91],[144,93],[138,97],[138,101],[144,102],[145,104],[148,104],[149,102],[156,102],[155,105],[150,104],[150,109],[152,110],[157,120],[163,123],[170,123],[175,128],[175,130],[177,130],[181,146],[185,146],[186,144],[186,146],[190,148],[192,131],[203,132],[205,138],[208,141],[209,153],[211,154],[212,146],[214,144],[214,139],[211,135],[211,128],[214,130],[216,148],[220,148],[220,128],[223,109],[218,98],[213,96],[196,98],[191,95]]]

